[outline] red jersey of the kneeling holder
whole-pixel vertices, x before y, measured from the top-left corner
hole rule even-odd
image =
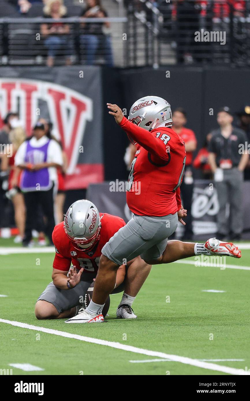
[[[124,225],[125,221],[118,216],[112,216],[108,213],[100,213],[102,228],[100,231],[100,240],[91,249],[91,251],[84,251],[75,249],[72,242],[68,239],[64,228],[63,222],[55,226],[52,240],[55,245],[55,259],[53,267],[57,270],[69,271],[71,263],[79,270],[81,267],[85,271],[97,271],[100,256],[102,255],[102,248],[109,241],[111,237]]]

